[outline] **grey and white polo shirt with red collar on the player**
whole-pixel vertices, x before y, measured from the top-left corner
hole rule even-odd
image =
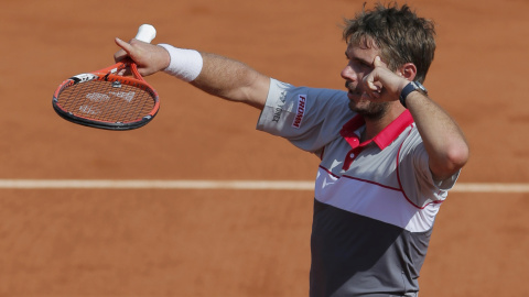
[[[311,296],[415,296],[441,202],[458,173],[433,180],[409,111],[360,143],[345,91],[271,79],[258,130],[321,158],[314,191]]]

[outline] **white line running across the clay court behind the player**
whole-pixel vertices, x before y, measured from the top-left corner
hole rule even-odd
[[[314,182],[0,179],[0,189],[250,189],[313,190]],[[453,193],[529,193],[529,184],[458,183]]]

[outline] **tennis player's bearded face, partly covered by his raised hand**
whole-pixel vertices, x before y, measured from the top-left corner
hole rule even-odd
[[[389,103],[386,100],[373,101],[366,92],[367,86],[363,84],[363,79],[373,72],[375,57],[379,55],[380,51],[373,43],[348,43],[345,52],[347,66],[341,74],[348,90],[350,110],[374,120],[380,119],[386,113]]]

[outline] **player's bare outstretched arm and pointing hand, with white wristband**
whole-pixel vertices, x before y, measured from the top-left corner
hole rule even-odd
[[[115,54],[115,59],[131,58],[138,64],[138,70],[143,76],[171,66],[172,73],[177,70],[185,74],[177,77],[210,95],[244,102],[258,109],[264,107],[270,78],[241,62],[190,50],[171,51],[172,47],[162,47],[137,40],[127,43],[116,38],[116,44],[122,50]],[[193,61],[183,59],[183,63],[179,63],[181,57]]]

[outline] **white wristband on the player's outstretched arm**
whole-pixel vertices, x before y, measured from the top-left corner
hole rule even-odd
[[[169,52],[171,62],[164,73],[175,76],[184,81],[193,81],[202,72],[204,61],[201,53],[195,50],[177,48],[169,44],[159,44]]]

